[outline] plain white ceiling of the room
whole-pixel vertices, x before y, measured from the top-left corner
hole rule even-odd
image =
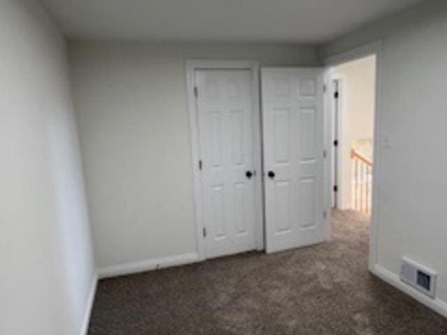
[[[69,38],[324,43],[425,0],[42,0]]]

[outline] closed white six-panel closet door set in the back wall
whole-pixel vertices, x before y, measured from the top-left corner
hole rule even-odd
[[[205,253],[256,248],[251,70],[196,70]]]

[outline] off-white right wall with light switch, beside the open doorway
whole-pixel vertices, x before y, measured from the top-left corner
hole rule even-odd
[[[379,60],[377,265],[396,278],[407,256],[439,272],[447,315],[447,2],[429,1],[321,50],[383,38]],[[390,146],[387,148],[386,139]]]

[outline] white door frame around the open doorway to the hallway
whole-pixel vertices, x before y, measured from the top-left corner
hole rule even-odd
[[[362,45],[360,47],[356,47],[352,50],[349,50],[347,52],[342,52],[340,54],[335,54],[334,56],[327,57],[323,59],[323,64],[329,69],[333,66],[337,66],[342,63],[346,63],[347,61],[353,61],[355,59],[359,59],[362,57],[367,56],[376,56],[376,106],[374,111],[374,169],[373,169],[373,185],[372,185],[372,218],[371,218],[371,227],[370,227],[370,234],[369,234],[369,271],[374,272],[374,268],[376,265],[377,260],[377,230],[379,225],[379,184],[381,180],[381,174],[379,167],[381,165],[381,131],[380,131],[380,117],[381,117],[381,111],[382,111],[382,91],[381,91],[381,77],[383,73],[383,42],[382,40],[376,40],[372,43],[368,43],[365,45]],[[330,78],[328,75],[328,70],[326,71],[326,86],[331,87],[330,84],[328,84]],[[327,106],[325,113],[327,115],[327,119],[329,121],[329,124],[327,125],[329,128],[327,130],[327,133],[332,128],[331,121],[332,118],[330,115],[332,114],[332,107],[330,107],[332,104],[330,103],[329,99],[333,98],[333,92],[331,90],[328,90],[329,94],[326,94],[326,103]],[[328,148],[332,145],[330,142],[328,142]],[[332,150],[328,150],[328,152],[331,154]],[[332,162],[332,157],[328,159],[327,162]],[[329,169],[329,173],[332,174],[332,169]],[[329,180],[332,179],[332,176],[329,175]],[[328,195],[330,195],[330,189],[328,189]]]

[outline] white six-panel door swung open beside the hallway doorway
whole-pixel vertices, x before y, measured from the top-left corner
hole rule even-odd
[[[323,70],[262,70],[268,253],[323,241]]]

